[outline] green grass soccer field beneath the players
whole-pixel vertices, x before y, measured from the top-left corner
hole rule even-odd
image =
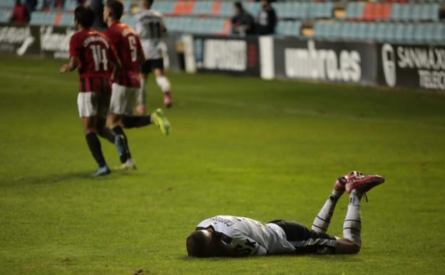
[[[170,136],[127,130],[138,170],[95,179],[62,63],[0,56],[0,274],[444,274],[444,95],[170,74]],[[187,256],[216,214],[310,226],[352,170],[387,179],[362,202],[359,254]],[[328,233],[346,209],[343,196]]]

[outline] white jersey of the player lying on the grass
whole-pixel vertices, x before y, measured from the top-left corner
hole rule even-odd
[[[284,254],[296,250],[287,241],[285,231],[277,224],[262,224],[254,219],[237,216],[214,216],[201,221],[197,229],[210,226],[219,234],[227,236],[225,241],[235,254]]]

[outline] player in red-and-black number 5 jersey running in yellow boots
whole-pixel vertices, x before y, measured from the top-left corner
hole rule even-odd
[[[128,149],[128,139],[123,131],[125,128],[146,126],[154,122],[164,135],[168,135],[170,124],[158,109],[148,116],[133,116],[135,101],[140,87],[140,65],[145,61],[140,41],[134,29],[120,22],[123,14],[123,4],[118,0],[106,1],[103,8],[103,21],[108,29],[104,31],[111,44],[115,47],[122,67],[112,85],[110,113],[108,125],[118,135],[122,136],[127,149],[127,159],[121,159],[120,169],[135,169]]]

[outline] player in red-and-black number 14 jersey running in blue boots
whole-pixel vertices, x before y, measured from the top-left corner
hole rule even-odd
[[[126,158],[123,140],[105,127],[110,104],[110,79],[116,77],[121,66],[110,41],[98,31],[90,29],[94,12],[90,7],[78,6],[74,10],[74,24],[79,30],[71,36],[68,64],[61,66],[66,73],[78,68],[80,89],[77,97],[78,112],[86,135],[86,142],[98,164],[95,176],[110,174],[102,154],[97,134],[116,144],[120,158]]]

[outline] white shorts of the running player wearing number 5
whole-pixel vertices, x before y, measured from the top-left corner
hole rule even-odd
[[[131,116],[135,108],[137,94],[138,88],[113,83],[111,86],[110,113]]]

